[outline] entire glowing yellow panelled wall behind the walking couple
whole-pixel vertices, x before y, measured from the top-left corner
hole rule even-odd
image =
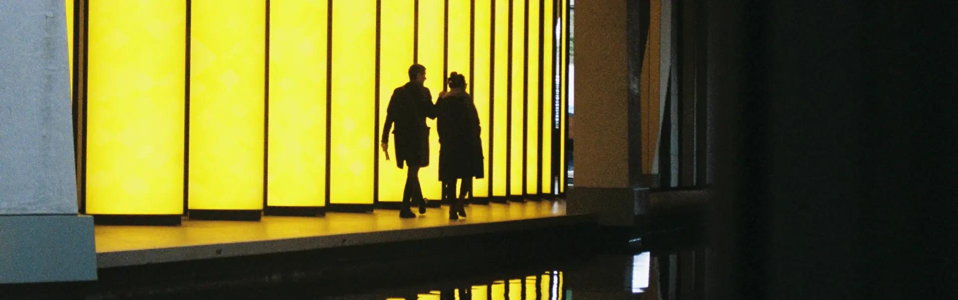
[[[74,1],[64,3],[71,70],[76,46],[72,38]],[[470,0],[418,1],[416,59],[427,69],[425,86],[435,101],[443,91],[447,75],[444,69],[467,76],[482,125],[485,162],[494,158],[491,167],[485,164],[486,179],[473,182],[475,197],[490,196],[489,184],[492,184],[492,196],[536,194],[539,174],[543,174],[542,192],[551,192],[552,153],[549,150],[554,142],[562,149],[559,169],[565,170],[568,61],[564,52],[557,57],[561,79],[559,86],[554,86],[551,50],[560,46],[564,51],[568,47],[565,38],[568,2],[561,0],[562,35],[560,44],[553,45],[554,8],[547,3],[546,17],[542,20],[539,1],[542,0],[529,0],[529,11],[524,7],[525,0],[513,1],[512,8],[509,1],[494,4],[477,1],[475,11],[470,11]],[[379,110],[381,126],[393,89],[407,81],[406,69],[414,59],[416,1],[379,1],[382,6],[379,41],[376,41],[376,2],[334,0],[333,32],[328,37],[327,0],[269,1],[267,91],[267,82],[264,82],[267,1],[192,1],[191,50],[185,54],[185,0],[134,4],[90,0],[89,68],[86,70],[89,78],[87,212],[179,214],[183,189],[187,187],[191,209],[262,209],[263,197],[273,206],[322,206],[326,199],[331,204],[373,204],[376,197],[380,202],[401,201],[405,172],[395,167],[395,161],[385,161],[385,155],[377,150],[379,137],[374,136],[377,132],[374,127],[376,110]],[[491,31],[493,5],[494,32]],[[444,20],[446,11],[448,24]],[[474,22],[472,32],[470,19]],[[512,47],[509,47],[510,34],[513,35]],[[444,44],[446,36],[448,44]],[[470,36],[474,38],[471,46]],[[491,42],[493,36],[494,43]],[[545,54],[541,92],[539,36],[543,37]],[[328,38],[331,38],[331,61],[327,61]],[[381,47],[379,95],[375,95],[376,42]],[[493,47],[494,55],[491,54]],[[470,49],[474,54],[471,62]],[[448,54],[445,60],[444,54]],[[186,55],[190,55],[189,66],[185,66]],[[490,73],[490,62],[495,65],[494,73]],[[331,64],[331,78],[326,77],[328,64]],[[512,73],[509,73],[510,66]],[[328,80],[331,82],[329,96],[326,95]],[[189,90],[185,90],[187,87]],[[553,105],[550,91],[556,88],[561,91],[562,103],[559,108],[562,139],[558,141],[550,135]],[[267,92],[269,116],[264,115]],[[539,93],[542,93],[541,103]],[[331,116],[326,114],[328,98]],[[186,99],[189,102],[185,102]],[[184,116],[187,105],[189,116]],[[543,106],[541,113],[540,105]],[[524,111],[523,107],[528,110]],[[490,109],[494,109],[491,119]],[[507,127],[509,121],[511,128]],[[326,128],[327,122],[331,123],[330,128]],[[184,123],[189,126],[187,141]],[[432,128],[431,160],[430,166],[421,170],[420,179],[423,196],[438,200],[441,191],[439,137],[435,121],[430,119],[427,125]],[[541,151],[537,136],[540,126],[543,128]],[[268,140],[264,130],[268,130]],[[327,133],[331,135],[329,143]],[[512,139],[507,138],[508,134]],[[507,140],[512,143],[510,148],[507,148]],[[267,141],[268,158],[265,158]],[[493,147],[490,141],[494,141]],[[524,142],[527,148],[523,148]],[[329,162],[327,147],[331,154]],[[189,149],[186,186],[183,184],[184,148]],[[374,169],[376,156],[379,157],[377,170]],[[543,160],[541,168],[537,167],[538,156]],[[506,167],[507,158],[511,169]],[[326,163],[331,163],[329,178]],[[523,173],[523,163],[526,163],[526,173]],[[379,186],[378,194],[374,195],[376,172]],[[494,182],[488,180],[490,172],[494,172]],[[268,178],[263,178],[264,173]],[[507,174],[511,177],[510,190],[506,188]],[[265,195],[264,180],[268,187]],[[329,191],[325,190],[327,182],[331,186]],[[525,190],[522,189],[524,183]],[[564,192],[564,185],[560,184],[559,192]]]

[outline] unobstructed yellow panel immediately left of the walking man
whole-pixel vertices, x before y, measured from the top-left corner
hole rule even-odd
[[[376,0],[332,2],[330,203],[373,204]]]

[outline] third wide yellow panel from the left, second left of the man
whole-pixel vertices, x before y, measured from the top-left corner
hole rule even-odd
[[[326,0],[269,4],[266,204],[326,205]]]

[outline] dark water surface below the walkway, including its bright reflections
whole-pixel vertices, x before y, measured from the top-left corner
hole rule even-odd
[[[550,228],[105,269],[93,283],[0,286],[0,299],[706,299],[701,240]]]

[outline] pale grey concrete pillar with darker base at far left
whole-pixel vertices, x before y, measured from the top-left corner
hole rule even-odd
[[[0,2],[0,284],[96,279],[77,214],[64,1]]]

